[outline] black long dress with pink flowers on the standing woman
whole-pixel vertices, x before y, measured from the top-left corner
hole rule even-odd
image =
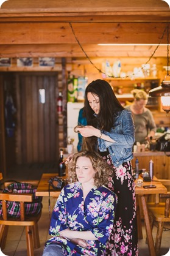
[[[110,155],[103,155],[115,171],[108,187],[118,195],[113,230],[107,243],[107,256],[137,256],[138,233],[136,222],[135,186],[130,162],[114,167]]]

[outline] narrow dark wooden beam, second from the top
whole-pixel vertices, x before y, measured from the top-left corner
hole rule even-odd
[[[0,21],[15,22],[15,21],[55,21],[55,22],[80,22],[80,23],[93,23],[93,22],[161,22],[167,23],[170,21],[170,10],[166,12],[83,12],[83,13],[18,13],[18,12],[1,12]]]

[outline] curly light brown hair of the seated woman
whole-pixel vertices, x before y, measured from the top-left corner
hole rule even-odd
[[[68,175],[73,181],[77,181],[76,162],[79,157],[87,157],[96,171],[94,175],[94,184],[96,187],[102,185],[108,186],[108,177],[113,176],[112,168],[105,162],[105,160],[96,152],[80,151],[74,154],[73,158],[68,164]]]

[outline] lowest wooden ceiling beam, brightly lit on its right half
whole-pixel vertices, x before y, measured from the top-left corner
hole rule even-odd
[[[83,44],[83,49],[89,57],[148,57],[154,52],[156,46],[99,46],[96,44]],[[158,47],[154,54],[155,57],[166,57],[166,46]],[[80,46],[76,44],[18,44],[18,45],[0,45],[0,58],[19,58],[19,57],[85,57]]]

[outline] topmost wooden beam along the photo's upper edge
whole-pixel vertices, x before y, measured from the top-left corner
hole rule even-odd
[[[96,12],[120,12],[120,11],[158,11],[168,10],[169,6],[166,2],[160,0],[86,0],[79,3],[76,0],[9,0],[2,4],[1,9],[9,11],[23,12],[93,12],[95,7]]]

